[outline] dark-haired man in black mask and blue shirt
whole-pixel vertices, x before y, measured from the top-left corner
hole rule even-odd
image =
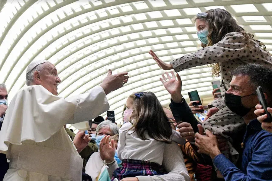
[[[271,180],[272,173],[272,133],[261,128],[261,123],[254,114],[255,105],[259,103],[256,89],[261,86],[268,106],[272,106],[272,70],[262,65],[247,64],[231,71],[232,81],[225,93],[225,103],[234,113],[243,117],[246,132],[241,147],[243,154],[237,166],[228,160],[218,149],[215,135],[199,127],[195,144],[199,153],[209,155],[226,181]],[[239,137],[237,137],[239,139]]]

